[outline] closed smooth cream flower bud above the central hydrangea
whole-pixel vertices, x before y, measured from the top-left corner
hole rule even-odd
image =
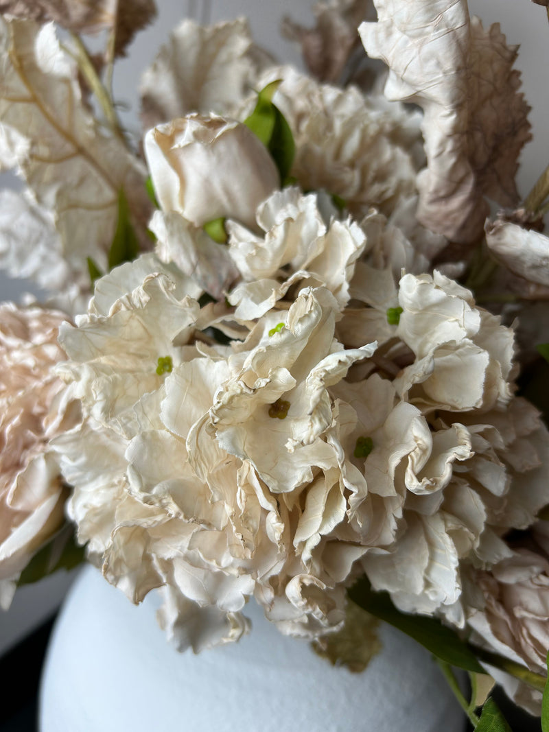
[[[164,211],[197,226],[230,216],[255,225],[255,209],[280,178],[272,157],[244,124],[190,114],[149,130],[145,154]]]

